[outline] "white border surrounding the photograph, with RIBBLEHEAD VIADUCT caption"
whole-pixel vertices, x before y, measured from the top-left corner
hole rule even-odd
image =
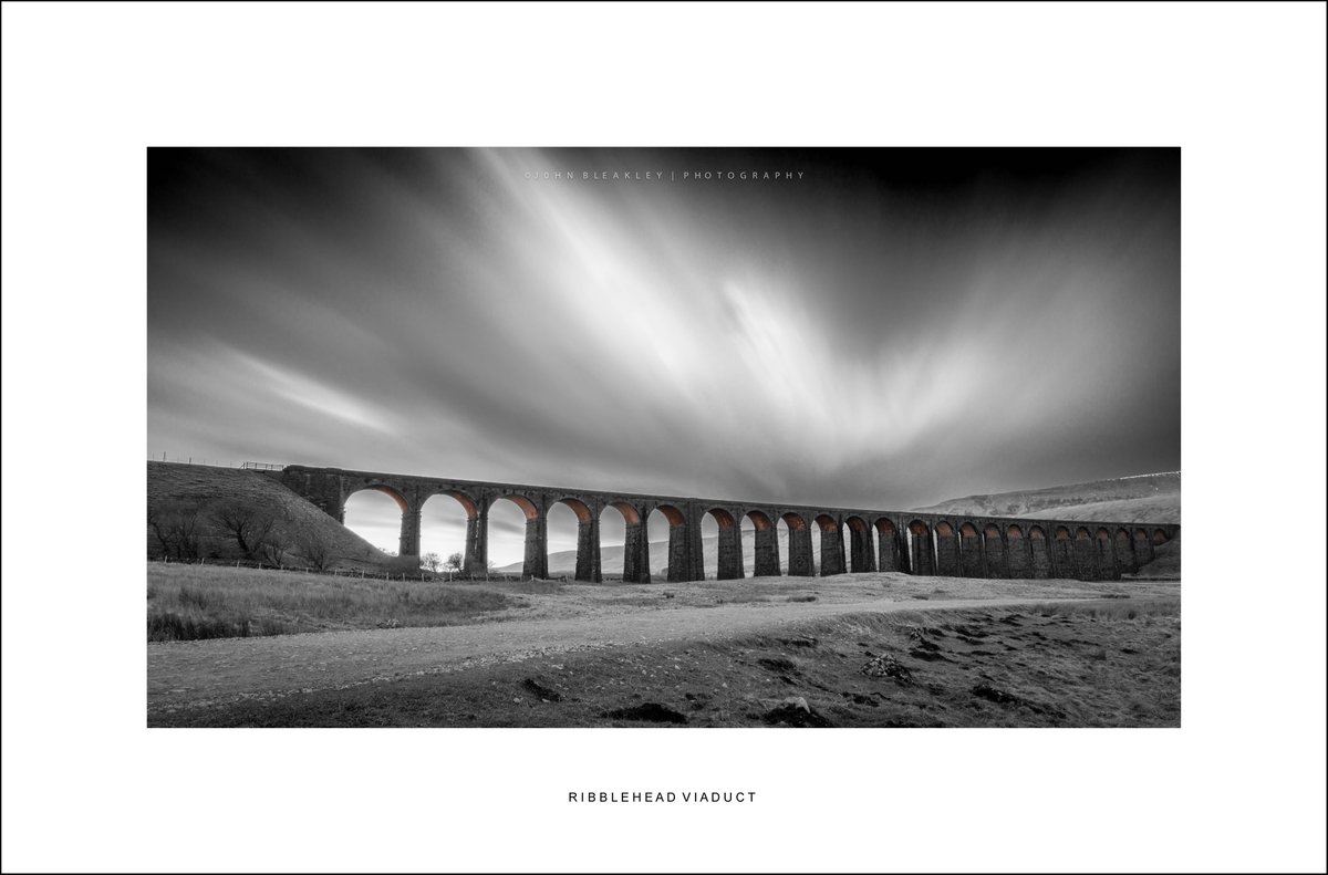
[[[5,3],[4,870],[1323,871],[1324,24]],[[1183,729],[145,730],[143,150],[183,143],[1181,145]],[[760,801],[563,801],[616,785]]]

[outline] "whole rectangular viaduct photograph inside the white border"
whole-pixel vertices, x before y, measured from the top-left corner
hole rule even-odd
[[[146,161],[149,725],[1181,724],[1179,150]]]

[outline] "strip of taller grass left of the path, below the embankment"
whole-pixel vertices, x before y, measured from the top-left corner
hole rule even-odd
[[[522,588],[149,563],[147,640],[454,625],[521,607]]]

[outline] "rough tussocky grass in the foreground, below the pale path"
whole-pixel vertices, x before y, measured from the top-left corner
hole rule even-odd
[[[150,725],[1179,726],[1179,608],[858,613],[163,712]]]

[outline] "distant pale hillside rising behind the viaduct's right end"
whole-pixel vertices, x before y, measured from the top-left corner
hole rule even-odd
[[[995,495],[968,495],[914,510],[926,514],[1179,523],[1181,471],[996,493]]]

